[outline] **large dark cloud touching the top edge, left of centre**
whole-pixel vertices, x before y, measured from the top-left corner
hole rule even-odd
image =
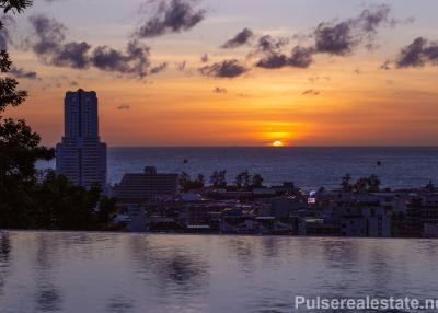
[[[205,18],[205,10],[196,9],[193,0],[149,1],[158,3],[152,15],[135,32],[137,38],[148,38],[166,33],[180,33],[194,27]]]

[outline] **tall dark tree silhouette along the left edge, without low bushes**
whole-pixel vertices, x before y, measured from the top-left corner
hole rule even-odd
[[[21,13],[32,5],[26,0],[1,0],[3,13]],[[0,21],[0,30],[4,24]],[[0,71],[7,76],[12,61],[7,50],[0,51]],[[41,138],[24,120],[4,118],[10,106],[24,102],[27,92],[9,77],[0,79],[0,221],[2,227],[20,227],[32,209],[32,188],[35,183],[35,162],[51,159],[54,150],[41,146]]]

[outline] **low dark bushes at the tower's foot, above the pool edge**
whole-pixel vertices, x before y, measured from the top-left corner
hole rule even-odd
[[[4,229],[106,230],[116,213],[115,200],[102,196],[99,187],[87,190],[54,171],[41,183],[9,190],[13,202],[0,202]]]

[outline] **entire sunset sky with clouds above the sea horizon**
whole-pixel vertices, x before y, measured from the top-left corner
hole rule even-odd
[[[438,144],[437,12],[436,0],[36,0],[7,23],[30,91],[7,115],[54,144],[65,93],[82,88],[113,147]]]

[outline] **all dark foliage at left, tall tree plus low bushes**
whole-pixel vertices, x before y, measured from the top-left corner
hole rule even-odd
[[[30,0],[0,0],[4,14],[21,13],[30,5]],[[8,51],[1,50],[1,73],[11,66]],[[54,149],[43,147],[39,135],[23,119],[2,117],[26,96],[15,79],[0,78],[0,229],[107,229],[116,213],[115,201],[102,196],[99,187],[87,190],[53,171],[38,182],[35,163],[53,159]]]

